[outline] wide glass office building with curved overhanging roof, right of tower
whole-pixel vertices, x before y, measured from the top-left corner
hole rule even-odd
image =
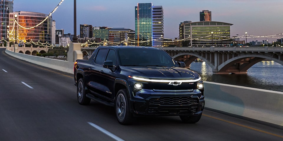
[[[216,21],[199,21],[182,24],[186,46],[230,46],[230,26]],[[213,33],[212,33],[213,32]]]

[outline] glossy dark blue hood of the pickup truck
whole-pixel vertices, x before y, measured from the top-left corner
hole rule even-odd
[[[192,70],[181,67],[140,67],[140,66],[120,66],[125,70],[124,73],[131,76],[155,79],[194,79],[200,75]]]

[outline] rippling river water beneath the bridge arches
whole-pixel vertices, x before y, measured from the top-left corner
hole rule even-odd
[[[195,61],[190,70],[199,73],[204,81],[283,92],[283,66],[274,61],[258,62],[247,74],[213,74],[205,62]]]

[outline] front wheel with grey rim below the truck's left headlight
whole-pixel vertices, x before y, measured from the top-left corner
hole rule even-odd
[[[130,112],[129,98],[126,89],[118,91],[115,98],[115,113],[121,125],[129,125],[133,122],[133,114]]]

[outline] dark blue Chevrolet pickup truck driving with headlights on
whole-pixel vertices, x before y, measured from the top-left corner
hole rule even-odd
[[[195,123],[204,108],[200,75],[159,48],[100,46],[74,66],[81,105],[95,100],[113,106],[120,124],[139,115],[180,116]]]

